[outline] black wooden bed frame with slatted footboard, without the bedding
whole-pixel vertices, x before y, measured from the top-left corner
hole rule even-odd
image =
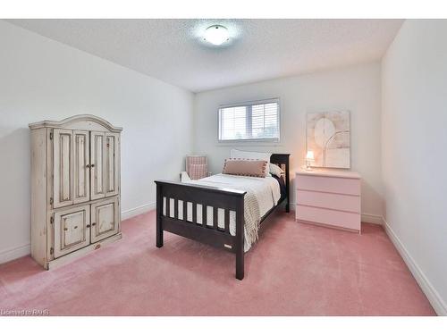
[[[283,168],[286,194],[261,219],[260,230],[265,228],[266,218],[280,205],[289,212],[289,156],[273,154],[270,163]],[[236,255],[236,278],[244,278],[244,196],[247,192],[231,188],[214,188],[174,181],[156,180],[156,247],[163,247],[163,232],[169,231],[188,239],[223,247]],[[165,201],[165,214],[163,211]],[[170,209],[173,199],[173,216]],[[179,200],[183,201],[183,213],[179,218]],[[188,221],[188,203],[192,203],[192,222]],[[207,222],[207,206],[213,207],[213,226],[197,222],[197,205],[202,205],[202,220]],[[217,226],[218,208],[224,210],[224,229]],[[230,234],[230,211],[236,213],[236,236]]]

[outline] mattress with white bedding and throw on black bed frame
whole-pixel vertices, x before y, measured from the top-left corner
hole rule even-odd
[[[271,176],[266,176],[266,178],[257,178],[257,177],[245,177],[245,176],[235,176],[230,174],[215,174],[213,176],[203,178],[201,180],[189,180],[185,183],[190,183],[194,185],[203,185],[203,186],[211,186],[218,188],[236,188],[247,191],[248,193],[245,195],[244,205],[244,213],[258,213],[256,216],[257,227],[256,231],[251,231],[252,224],[248,224],[248,219],[245,217],[245,245],[244,250],[248,251],[249,247],[253,244],[254,240],[252,238],[252,234],[256,233],[257,228],[260,222],[260,219],[267,214],[270,209],[274,207],[274,205],[278,204],[278,201],[281,198],[281,188],[278,180],[274,179]],[[248,201],[249,197],[255,197],[256,201]],[[163,204],[163,214],[166,215],[166,198],[164,198]],[[170,199],[170,214],[167,216],[173,217],[173,204],[174,200]],[[183,220],[183,201],[179,200],[178,204],[178,218]],[[250,206],[257,206],[257,208],[250,208]],[[247,208],[248,207],[248,208]],[[253,216],[253,215],[251,215]],[[230,234],[232,236],[236,235],[236,214],[234,211],[230,211]],[[192,203],[187,203],[187,220],[192,222]],[[202,219],[202,205],[198,204],[197,207],[197,223],[204,224]],[[209,226],[213,226],[213,208],[207,206],[207,222],[206,224]],[[219,228],[224,229],[224,209],[217,209],[217,225]]]

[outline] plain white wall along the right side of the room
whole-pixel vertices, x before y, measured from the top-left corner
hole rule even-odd
[[[405,21],[383,60],[387,229],[447,314],[447,21]]]

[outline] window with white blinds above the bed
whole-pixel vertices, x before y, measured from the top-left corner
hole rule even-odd
[[[280,138],[279,99],[219,108],[219,140]]]

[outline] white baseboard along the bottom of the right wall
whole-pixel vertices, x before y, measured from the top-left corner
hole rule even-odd
[[[401,257],[409,267],[409,271],[413,274],[413,277],[415,277],[419,287],[426,294],[428,301],[430,301],[430,304],[432,304],[434,308],[434,312],[438,315],[447,315],[447,304],[443,301],[443,298],[439,295],[436,289],[434,289],[432,283],[428,281],[426,275],[422,272],[413,257],[409,255],[409,251],[403,246],[401,239],[397,237],[388,222],[386,222],[384,218],[382,218],[382,220],[384,222],[384,230],[386,231],[386,234],[392,240],[392,244],[399,251],[399,254],[401,254]]]

